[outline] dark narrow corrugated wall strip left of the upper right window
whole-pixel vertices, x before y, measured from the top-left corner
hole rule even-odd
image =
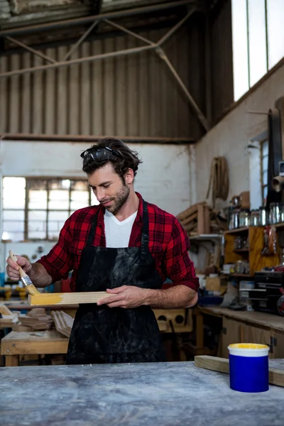
[[[234,104],[231,0],[212,14],[212,121],[216,123]]]

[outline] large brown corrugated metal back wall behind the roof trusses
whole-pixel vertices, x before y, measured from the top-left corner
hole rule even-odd
[[[156,41],[165,30],[141,33]],[[131,36],[84,43],[72,58],[141,45]],[[60,60],[67,46],[43,51]],[[165,51],[204,111],[204,42],[198,19],[168,40]],[[0,72],[42,65],[31,53],[0,60]],[[0,79],[0,132],[199,138],[195,112],[154,52],[84,62]]]

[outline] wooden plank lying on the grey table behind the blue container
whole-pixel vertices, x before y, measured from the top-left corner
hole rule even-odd
[[[229,359],[209,355],[195,356],[195,367],[229,374]],[[284,388],[284,371],[269,367],[269,383]]]

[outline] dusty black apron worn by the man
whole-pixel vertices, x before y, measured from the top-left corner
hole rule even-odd
[[[105,291],[121,285],[160,289],[163,279],[148,250],[148,207],[143,200],[141,247],[110,249],[92,246],[97,227],[94,216],[82,250],[76,291]],[[82,304],[67,351],[67,364],[116,364],[165,361],[162,338],[151,307],[133,309]]]

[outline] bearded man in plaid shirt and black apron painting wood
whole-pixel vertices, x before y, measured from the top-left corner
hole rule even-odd
[[[47,256],[33,264],[17,256],[18,265],[37,287],[73,271],[72,290],[111,294],[97,305],[78,308],[67,364],[165,361],[151,307],[197,302],[199,284],[187,235],[172,214],[134,191],[141,160],[124,142],[99,139],[81,157],[99,206],[73,213]],[[18,265],[11,259],[7,263],[9,277],[18,280]],[[166,278],[174,285],[163,290]]]

